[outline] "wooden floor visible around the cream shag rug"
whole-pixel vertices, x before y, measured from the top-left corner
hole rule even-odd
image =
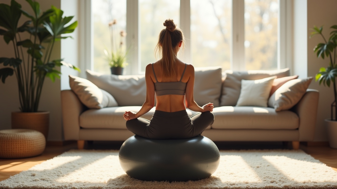
[[[266,142],[215,142],[220,150],[229,149],[291,149],[287,143],[266,143]],[[86,143],[85,149],[119,149],[122,142],[91,142]],[[26,171],[32,166],[45,160],[51,159],[70,149],[77,149],[76,143],[64,146],[47,146],[42,155],[22,159],[0,159],[0,181],[9,178],[22,171]],[[300,145],[300,149],[310,154],[314,158],[332,167],[337,171],[337,149],[329,146],[307,146]]]

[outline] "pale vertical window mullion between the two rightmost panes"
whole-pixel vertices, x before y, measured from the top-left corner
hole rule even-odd
[[[245,1],[232,1],[231,69],[245,70]]]

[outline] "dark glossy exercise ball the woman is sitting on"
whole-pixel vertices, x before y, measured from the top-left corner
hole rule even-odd
[[[144,181],[194,181],[210,177],[218,168],[220,153],[209,138],[154,140],[128,138],[119,150],[127,175]]]

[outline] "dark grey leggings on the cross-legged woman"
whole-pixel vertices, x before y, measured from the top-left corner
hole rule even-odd
[[[213,121],[212,112],[197,113],[189,117],[186,110],[156,110],[151,121],[144,118],[131,119],[126,121],[126,128],[149,139],[188,139],[200,135]]]

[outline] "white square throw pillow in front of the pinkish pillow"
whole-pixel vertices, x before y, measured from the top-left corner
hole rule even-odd
[[[241,92],[236,106],[267,107],[275,78],[276,76],[258,80],[241,80]]]

